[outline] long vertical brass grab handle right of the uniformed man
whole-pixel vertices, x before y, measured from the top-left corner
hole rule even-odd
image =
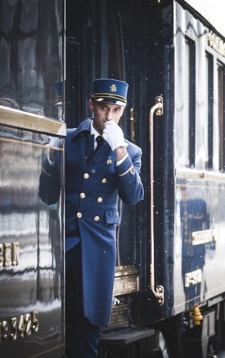
[[[152,106],[149,113],[149,140],[150,140],[150,234],[151,234],[151,264],[150,264],[150,288],[153,295],[156,297],[158,305],[162,306],[164,303],[164,287],[155,287],[155,238],[154,238],[154,161],[153,161],[153,120],[154,113],[157,116],[163,114],[163,98],[156,97],[156,103]]]

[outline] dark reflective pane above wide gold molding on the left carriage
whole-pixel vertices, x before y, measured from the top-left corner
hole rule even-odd
[[[62,119],[62,4],[0,2],[0,105]]]

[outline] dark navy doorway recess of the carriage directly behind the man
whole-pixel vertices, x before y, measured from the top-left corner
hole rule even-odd
[[[66,121],[75,127],[89,117],[87,106],[95,78],[126,81],[128,105],[120,121],[124,136],[147,153],[145,136],[146,52],[145,10],[142,1],[67,1]],[[141,33],[143,32],[143,34]],[[142,118],[142,125],[140,119]],[[146,123],[145,123],[146,122]],[[142,142],[140,141],[142,138]],[[142,168],[146,159],[142,158]],[[142,180],[147,180],[143,169]],[[117,268],[114,296],[137,292],[140,262],[140,208],[118,203],[121,224],[117,228]],[[147,215],[147,207],[142,209]],[[144,226],[144,225],[143,225]],[[145,235],[145,234],[144,234]],[[121,279],[121,277],[123,277]]]

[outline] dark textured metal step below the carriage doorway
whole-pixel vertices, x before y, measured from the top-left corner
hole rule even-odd
[[[149,338],[155,333],[153,328],[124,328],[100,335],[100,346],[115,346],[135,342],[143,338]]]

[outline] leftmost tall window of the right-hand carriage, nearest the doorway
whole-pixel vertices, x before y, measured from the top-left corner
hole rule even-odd
[[[195,47],[185,41],[184,164],[195,165]]]

